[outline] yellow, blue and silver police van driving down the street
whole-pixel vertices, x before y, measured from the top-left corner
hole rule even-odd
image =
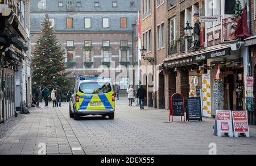
[[[114,119],[115,90],[113,83],[104,78],[79,77],[69,102],[71,118],[78,120],[86,115],[102,115]]]

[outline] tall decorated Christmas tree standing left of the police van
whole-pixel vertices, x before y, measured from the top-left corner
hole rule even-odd
[[[51,26],[49,16],[46,15],[42,23],[42,31],[33,52],[32,59],[32,89],[46,86],[50,90],[59,86],[61,90],[71,89],[71,80],[64,65],[64,50],[58,44],[55,31]]]

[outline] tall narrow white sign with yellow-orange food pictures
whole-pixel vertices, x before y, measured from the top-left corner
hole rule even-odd
[[[212,117],[211,93],[210,93],[210,74],[202,75],[203,87],[203,117]]]

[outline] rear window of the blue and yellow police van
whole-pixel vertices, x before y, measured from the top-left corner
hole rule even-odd
[[[112,91],[109,82],[83,82],[80,84],[79,92],[84,94],[102,94]]]

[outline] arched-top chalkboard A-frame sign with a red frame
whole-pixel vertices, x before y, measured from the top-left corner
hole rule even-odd
[[[172,122],[174,122],[174,117],[184,117],[185,121],[185,107],[184,107],[184,97],[179,94],[175,93],[171,96],[171,102],[170,102],[170,116],[169,121],[171,121],[172,116]]]

